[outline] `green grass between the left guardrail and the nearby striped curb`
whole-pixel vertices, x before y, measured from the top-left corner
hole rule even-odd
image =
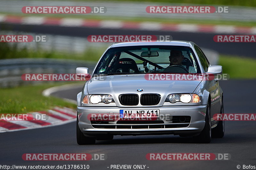
[[[23,114],[32,111],[45,111],[55,106],[76,108],[75,104],[68,103],[60,98],[42,95],[44,89],[56,85],[63,85],[63,83],[1,89],[0,113]]]

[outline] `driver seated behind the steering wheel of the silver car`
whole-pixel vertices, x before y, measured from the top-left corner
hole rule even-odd
[[[170,65],[180,65],[183,66],[184,68],[186,68],[186,65],[182,64],[182,60],[184,59],[184,55],[182,55],[182,51],[180,50],[172,50],[170,52],[170,56],[169,56],[169,61],[170,61]],[[162,70],[161,70],[162,71]],[[196,73],[196,70],[194,67],[189,66],[188,67],[188,72],[189,73]]]

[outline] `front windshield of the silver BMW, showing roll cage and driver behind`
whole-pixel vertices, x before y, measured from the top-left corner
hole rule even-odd
[[[201,73],[195,54],[184,46],[109,48],[94,71],[98,75]]]

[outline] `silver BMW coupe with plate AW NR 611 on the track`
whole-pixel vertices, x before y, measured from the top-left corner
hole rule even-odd
[[[114,135],[224,136],[223,92],[204,52],[191,41],[114,43],[77,94],[78,144]],[[87,76],[88,77],[88,76]]]

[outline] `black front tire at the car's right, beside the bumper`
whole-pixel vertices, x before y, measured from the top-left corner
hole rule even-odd
[[[198,136],[194,137],[196,143],[210,143],[212,140],[212,123],[211,123],[211,113],[210,113],[210,103],[207,104],[206,114],[205,114],[205,125],[204,129]]]

